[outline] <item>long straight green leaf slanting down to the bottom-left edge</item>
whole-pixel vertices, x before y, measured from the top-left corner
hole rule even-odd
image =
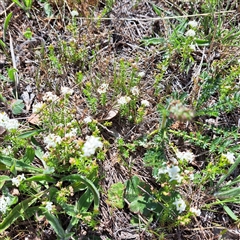
[[[3,233],[7,228],[9,228],[24,212],[29,208],[37,199],[43,195],[43,192],[37,195],[27,198],[24,201],[17,204],[12,211],[3,219],[0,223],[0,233]]]

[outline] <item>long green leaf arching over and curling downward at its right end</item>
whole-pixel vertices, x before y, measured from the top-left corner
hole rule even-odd
[[[88,180],[87,178],[79,174],[73,174],[70,176],[63,177],[61,181],[83,182],[92,191],[94,198],[94,211],[98,212],[100,195],[92,181]]]

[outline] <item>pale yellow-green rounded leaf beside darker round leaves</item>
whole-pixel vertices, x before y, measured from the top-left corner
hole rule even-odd
[[[123,183],[112,184],[108,189],[108,200],[107,203],[112,207],[122,209],[124,207],[124,189]]]

